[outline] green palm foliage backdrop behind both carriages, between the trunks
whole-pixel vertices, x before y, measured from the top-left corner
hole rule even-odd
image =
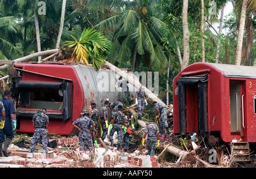
[[[0,1],[0,59],[15,59],[37,51],[34,22],[35,6],[39,0],[1,0]],[[217,15],[209,13],[209,2],[205,4],[205,61],[214,63],[216,44],[220,39],[219,63],[234,64],[237,45],[238,22],[236,13],[240,16],[242,1],[236,2],[234,11],[224,18],[224,28],[228,31],[216,35],[209,24],[219,22],[221,6],[227,0],[217,2]],[[47,14],[39,15],[39,31],[42,51],[56,46],[59,33],[61,1],[45,0]],[[180,72],[177,47],[183,56],[183,1],[180,0],[67,0],[65,22],[61,45],[65,41],[64,58],[73,53],[73,60],[92,63],[98,69],[108,60],[120,68],[133,68],[142,71],[160,72],[160,91],[165,95],[170,92],[172,101],[172,80]],[[255,11],[255,1],[249,0],[246,18]],[[201,51],[201,1],[189,1],[189,64],[200,62]],[[99,32],[89,28],[95,27]],[[255,15],[252,20],[255,29]],[[85,31],[84,31],[85,30]],[[218,29],[216,29],[218,32]],[[82,34],[82,35],[81,35]],[[245,32],[246,34],[246,32]],[[85,40],[86,39],[86,40]],[[112,44],[110,44],[110,39]],[[255,39],[255,38],[254,38]],[[246,38],[243,47],[246,47]],[[74,50],[74,51],[73,51]],[[242,64],[245,64],[243,48]],[[251,47],[251,65],[256,56],[256,45]],[[35,59],[36,60],[36,59]],[[167,67],[170,67],[169,89],[166,89]],[[166,97],[162,99],[165,101]]]

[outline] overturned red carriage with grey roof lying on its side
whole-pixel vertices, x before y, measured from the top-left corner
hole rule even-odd
[[[91,65],[61,63],[16,63],[14,69],[11,91],[17,104],[18,132],[34,132],[32,116],[46,107],[48,131],[73,135],[73,121],[83,109],[90,109],[90,103],[96,102],[100,110],[106,99],[114,102],[120,98],[115,90],[119,76],[109,69],[96,71]],[[106,88],[99,89],[104,82]],[[132,86],[129,90],[134,91]]]

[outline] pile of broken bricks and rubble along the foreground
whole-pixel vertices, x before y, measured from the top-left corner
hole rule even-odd
[[[8,148],[9,157],[0,158],[0,168],[134,168],[134,167],[159,167],[156,157],[150,157],[134,153],[119,152],[115,147],[106,149],[104,146],[94,148],[89,155],[79,152],[78,143],[72,143],[77,138],[60,138],[56,148],[49,148],[47,155],[34,152],[32,158],[28,158],[27,141],[29,137],[24,135],[16,138],[15,143]],[[61,141],[61,142],[60,142]],[[69,144],[68,144],[69,143]],[[38,145],[40,148],[40,144]]]

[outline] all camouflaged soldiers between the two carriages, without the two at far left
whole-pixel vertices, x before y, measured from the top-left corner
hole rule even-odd
[[[135,104],[137,105],[138,109],[137,119],[142,120],[143,110],[145,105],[147,105],[146,95],[142,86],[141,88],[139,88],[135,95]],[[155,123],[154,119],[151,119],[150,124],[146,126],[145,135],[142,138],[142,144],[144,145],[146,136],[148,136],[147,148],[148,155],[150,156],[155,155],[155,149],[160,144],[159,136],[163,134],[170,134],[167,123],[168,109],[164,105],[156,101],[153,102],[153,105],[156,109],[156,120],[158,120],[159,126]],[[85,111],[84,113],[82,113],[82,115],[86,115],[82,116],[80,119],[77,119],[73,123],[73,125],[80,130],[79,141],[81,141],[81,152],[84,151],[85,146],[85,151],[89,153],[89,151],[93,148],[93,141],[94,145],[97,146],[97,138],[101,138],[104,141],[104,139],[108,135],[108,130],[110,131],[110,146],[113,146],[113,135],[115,132],[117,132],[117,149],[120,150],[122,148],[122,145],[124,145],[125,152],[129,151],[129,139],[130,135],[133,134],[133,130],[135,129],[135,127],[132,120],[133,116],[123,114],[122,110],[124,106],[125,105],[120,101],[116,101],[114,103],[109,103],[109,101],[105,101],[104,106],[102,106],[100,111],[98,111],[96,109],[96,103],[92,103],[91,114],[89,115],[89,111]],[[110,123],[108,120],[108,107],[112,111],[112,120],[110,120]],[[84,122],[84,120],[88,122]],[[87,127],[82,127],[82,124],[85,123],[85,126]],[[98,127],[99,123],[101,124],[102,134],[100,128]],[[165,133],[163,129],[165,129]]]

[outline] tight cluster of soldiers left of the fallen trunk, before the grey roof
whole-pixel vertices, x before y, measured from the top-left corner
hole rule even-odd
[[[92,103],[91,114],[89,111],[84,110],[81,113],[81,118],[73,122],[73,126],[79,129],[79,145],[80,152],[89,151],[94,145],[97,147],[97,139],[101,138],[103,141],[110,131],[109,140],[110,145],[113,146],[113,135],[117,132],[118,144],[117,149],[121,150],[122,144],[124,144],[125,151],[129,150],[129,136],[134,129],[134,124],[131,122],[129,115],[123,114],[123,103],[120,101],[109,103],[104,102],[104,106],[101,107],[100,112],[96,109],[96,103]],[[108,120],[108,107],[112,110],[112,120],[109,123]],[[102,134],[99,127],[101,124]]]

